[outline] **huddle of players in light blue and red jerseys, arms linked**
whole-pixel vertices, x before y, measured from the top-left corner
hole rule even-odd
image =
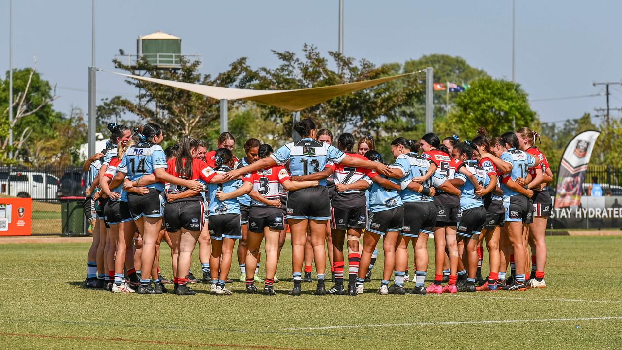
[[[207,144],[188,135],[162,149],[162,128],[154,123],[133,132],[116,123],[108,129],[107,148],[85,163],[85,215],[93,227],[86,288],[160,294],[173,282],[173,293],[193,295],[188,285],[202,282],[210,284],[210,293],[231,295],[226,283],[233,281],[238,241],[246,291],[257,293],[255,283],[262,282],[264,294],[275,295],[288,231],[290,295],[300,295],[302,283],[312,281],[313,261],[316,295],[363,293],[381,237],[381,295],[407,293],[409,245],[411,294],[546,286],[552,173],[536,147],[539,135],[529,128],[493,138],[480,128],[463,142],[434,133],[419,141],[398,137],[391,142],[393,164],[376,151],[370,135],[358,143],[351,133],[333,140],[330,130],[316,131],[311,119],[295,123],[300,141],[273,150],[251,138],[241,159],[226,132],[208,153]],[[425,286],[430,235],[435,275]],[[162,241],[170,247],[172,281],[160,272]],[[202,278],[190,270],[197,243]],[[486,278],[483,246],[490,263]],[[327,250],[331,288],[325,286]],[[265,280],[258,276],[262,256]]]

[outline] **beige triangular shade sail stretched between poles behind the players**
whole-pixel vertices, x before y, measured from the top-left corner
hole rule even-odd
[[[289,111],[304,110],[309,106],[317,105],[318,103],[328,101],[331,98],[346,95],[346,93],[363,90],[364,88],[373,87],[374,85],[414,74],[406,73],[393,75],[392,77],[363,80],[362,82],[329,85],[326,87],[303,88],[297,90],[249,90],[243,88],[214,87],[211,85],[175,82],[174,80],[141,77],[139,75],[109,72],[108,70],[102,71],[200,93],[201,95],[215,98],[216,100],[249,100],[276,106]]]

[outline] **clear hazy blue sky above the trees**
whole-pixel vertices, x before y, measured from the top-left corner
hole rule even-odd
[[[0,6],[4,72],[9,67],[9,0]],[[620,82],[620,16],[619,1],[516,0],[516,80],[529,98],[592,95],[604,92],[592,86],[595,80]],[[511,78],[511,0],[345,0],[344,17],[346,55],[375,64],[425,54],[459,55],[493,77]],[[55,108],[86,110],[91,1],[14,0],[13,23],[14,67],[32,65],[37,55],[39,72],[58,85]],[[96,65],[113,69],[118,49],[135,54],[138,35],[160,30],[181,37],[183,53],[202,54],[203,73],[226,70],[241,56],[255,68],[274,67],[271,49],[300,52],[306,42],[323,52],[337,50],[337,24],[338,0],[97,0]],[[120,77],[98,73],[97,83],[98,100],[135,94]],[[622,106],[620,85],[611,88],[610,103]],[[578,118],[604,106],[604,95],[532,102],[544,121]]]

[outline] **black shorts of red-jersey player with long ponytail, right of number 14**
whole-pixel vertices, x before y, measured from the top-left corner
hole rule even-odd
[[[188,231],[203,230],[205,214],[202,201],[175,201],[164,204],[164,227],[177,232],[182,227]]]

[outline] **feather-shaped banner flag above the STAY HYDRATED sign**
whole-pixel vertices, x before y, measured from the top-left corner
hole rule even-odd
[[[559,163],[555,208],[576,207],[581,204],[585,171],[600,131],[589,130],[575,136],[568,144]]]

